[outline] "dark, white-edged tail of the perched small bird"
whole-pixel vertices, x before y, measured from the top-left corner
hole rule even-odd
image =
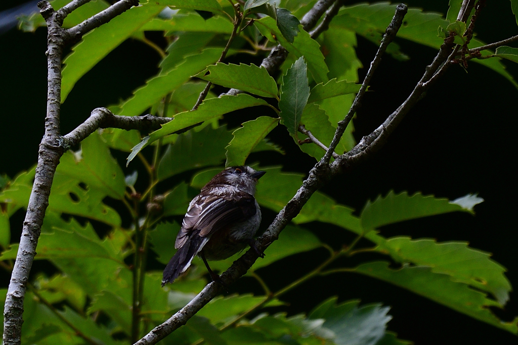
[[[199,230],[193,231],[187,241],[178,248],[176,254],[169,260],[169,263],[164,269],[164,276],[162,278],[162,287],[167,283],[172,283],[180,274],[186,271],[191,265],[191,261],[196,254],[203,249],[209,238],[200,237]]]

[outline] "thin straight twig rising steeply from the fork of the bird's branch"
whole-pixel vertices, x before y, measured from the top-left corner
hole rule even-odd
[[[383,39],[381,40],[380,48],[378,49],[378,52],[376,52],[374,59],[370,63],[370,67],[369,67],[369,70],[367,71],[367,74],[363,81],[362,87],[359,89],[359,92],[356,95],[356,98],[354,99],[351,109],[349,109],[349,112],[347,113],[346,117],[338,123],[335,137],[333,138],[333,141],[329,144],[329,149],[327,150],[326,154],[322,158],[322,162],[324,162],[325,164],[327,164],[329,162],[333,152],[335,152],[335,148],[338,145],[338,142],[342,138],[343,132],[346,130],[347,126],[349,125],[349,122],[351,122],[351,119],[353,118],[354,113],[356,113],[356,110],[360,107],[362,98],[365,95],[365,92],[367,91],[367,86],[369,85],[370,80],[372,79],[374,71],[376,70],[376,68],[378,67],[378,65],[381,62],[381,56],[383,55],[383,53],[385,52],[385,50],[387,49],[389,44],[396,37],[396,34],[399,31],[399,28],[401,27],[403,18],[405,18],[405,14],[407,14],[407,11],[408,11],[408,8],[404,4],[400,4],[396,7],[396,12],[394,13],[392,22],[387,27],[387,29],[385,31],[385,35],[383,36]]]

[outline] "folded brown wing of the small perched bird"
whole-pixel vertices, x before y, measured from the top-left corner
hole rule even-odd
[[[175,248],[182,247],[194,230],[199,230],[200,237],[206,237],[228,224],[247,220],[256,212],[254,197],[238,189],[205,198],[198,196],[183,218]]]

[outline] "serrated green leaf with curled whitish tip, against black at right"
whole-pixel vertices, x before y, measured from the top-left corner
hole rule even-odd
[[[451,203],[448,199],[423,196],[415,193],[409,196],[407,192],[395,194],[390,191],[386,197],[378,197],[374,202],[368,201],[360,218],[365,229],[376,229],[386,224],[403,220],[439,215],[455,211],[473,213],[472,209],[464,209]]]

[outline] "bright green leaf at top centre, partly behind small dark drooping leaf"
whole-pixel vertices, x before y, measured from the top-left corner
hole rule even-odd
[[[279,42],[296,58],[304,56],[308,69],[317,83],[327,82],[329,70],[324,62],[324,55],[320,51],[320,44],[312,39],[306,31],[301,30],[293,43],[290,43],[282,36],[274,19],[265,17],[254,21],[254,25],[269,41]]]

